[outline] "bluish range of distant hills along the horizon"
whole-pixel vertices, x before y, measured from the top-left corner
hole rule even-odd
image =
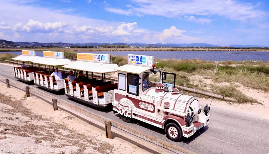
[[[74,45],[79,46],[99,46],[99,45],[130,45],[134,47],[156,47],[156,48],[166,48],[166,47],[220,47],[220,45],[212,45],[208,43],[156,43],[156,44],[146,44],[146,43],[123,43],[123,42],[117,42],[117,43],[39,43],[39,42],[12,42],[7,40],[0,40],[0,48],[7,48],[7,47],[16,47],[16,46],[33,46],[33,47],[42,47],[42,46],[57,46],[57,47],[70,47]],[[265,45],[228,45],[227,47],[234,47],[234,48],[250,48],[250,47],[269,47]]]

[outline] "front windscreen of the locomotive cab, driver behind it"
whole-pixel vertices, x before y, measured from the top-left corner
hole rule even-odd
[[[143,73],[142,86],[143,91],[150,87],[155,87],[161,80],[161,71]]]

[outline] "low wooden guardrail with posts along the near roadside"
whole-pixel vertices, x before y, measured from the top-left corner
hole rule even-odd
[[[6,82],[4,81],[4,77],[0,76],[0,78],[2,78],[2,79],[0,79],[1,82],[6,83]],[[19,83],[19,82],[17,82],[17,81],[14,81],[14,80],[12,80],[12,79],[9,79],[9,83],[10,83],[10,82],[13,82],[13,83],[14,83],[14,84],[10,84],[10,85],[13,86],[13,87],[17,87],[17,86],[15,86],[15,84],[16,84],[16,85],[19,84],[20,86],[23,86],[23,87],[24,87],[24,84]],[[19,88],[19,89],[23,90],[23,88]],[[39,97],[42,97],[42,98],[45,97],[45,98],[50,99],[50,100],[55,99],[55,97],[53,97],[52,95],[50,95],[50,94],[46,94],[46,93],[42,92],[41,90],[39,90],[39,89],[37,89],[37,88],[35,88],[35,87],[30,87],[30,89],[31,89],[33,92],[40,94],[41,96],[39,96]],[[115,128],[118,128],[118,129],[120,129],[120,130],[123,130],[123,131],[125,131],[125,132],[128,132],[128,133],[130,133],[130,134],[133,134],[134,136],[137,136],[137,137],[139,137],[139,138],[142,138],[142,139],[144,139],[144,140],[146,140],[146,141],[148,141],[148,142],[154,143],[155,145],[159,145],[160,147],[165,148],[165,149],[167,149],[167,150],[170,150],[170,151],[172,151],[172,152],[174,152],[174,153],[178,153],[178,154],[194,154],[193,152],[191,152],[191,151],[189,151],[189,150],[186,150],[186,149],[184,149],[184,148],[178,147],[178,146],[176,146],[176,145],[174,145],[174,144],[172,144],[172,143],[168,143],[168,142],[166,142],[166,141],[160,140],[160,139],[155,138],[155,137],[153,137],[153,136],[150,136],[150,135],[148,135],[148,134],[146,134],[146,133],[143,133],[143,132],[138,131],[138,130],[136,130],[136,129],[130,128],[130,127],[124,125],[124,124],[118,123],[118,122],[116,122],[116,121],[110,120],[110,119],[105,118],[105,117],[101,117],[101,116],[96,115],[96,114],[94,114],[94,113],[90,113],[89,111],[85,111],[84,109],[80,109],[80,108],[78,108],[78,107],[76,107],[76,106],[74,106],[74,105],[72,105],[72,104],[70,104],[70,103],[68,103],[67,101],[64,101],[64,100],[62,100],[62,99],[57,99],[57,102],[59,102],[59,104],[62,104],[62,105],[64,105],[64,106],[69,107],[70,109],[74,109],[74,110],[79,111],[79,112],[81,112],[81,113],[83,113],[83,114],[86,114],[87,116],[90,116],[90,117],[92,117],[92,118],[94,118],[94,119],[97,119],[97,120],[99,120],[99,121],[103,121],[104,123],[105,123],[106,121],[110,121],[110,125],[111,125],[111,126],[113,126],[113,127],[115,127]],[[56,103],[54,102],[54,105],[55,105],[55,104],[56,104]],[[59,104],[58,104],[58,106],[59,106]],[[108,127],[108,126],[107,126],[107,123],[109,123],[109,122],[106,122],[106,123],[105,123],[106,127]],[[106,129],[106,130],[107,130],[106,133],[108,133],[108,137],[109,137],[109,136],[110,136],[110,132],[108,132],[108,131],[111,131],[111,130],[110,130],[109,127],[108,127],[108,129]]]

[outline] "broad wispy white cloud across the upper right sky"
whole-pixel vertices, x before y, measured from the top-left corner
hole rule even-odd
[[[105,8],[106,11],[124,14],[133,12],[133,15],[157,15],[168,18],[180,18],[181,16],[225,16],[231,20],[245,20],[266,17],[264,11],[255,9],[256,5],[251,3],[240,3],[234,0],[132,0],[137,7],[123,10],[118,8]],[[129,15],[129,14],[128,14]],[[209,20],[200,19],[201,23],[208,23]]]

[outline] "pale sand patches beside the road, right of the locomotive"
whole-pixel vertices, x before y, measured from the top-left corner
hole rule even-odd
[[[215,84],[219,86],[228,86],[230,83],[228,82],[220,82],[215,83],[210,77],[208,76],[200,76],[194,75],[189,77],[191,84],[197,84],[198,86],[203,86],[205,89],[209,89],[210,84]],[[202,81],[202,82],[201,82]],[[224,110],[228,110],[230,112],[237,112],[238,114],[245,114],[249,116],[254,116],[257,118],[262,119],[269,119],[269,94],[257,89],[252,89],[250,87],[245,87],[242,84],[234,83],[237,85],[240,92],[245,94],[248,97],[257,99],[262,104],[253,104],[253,103],[245,103],[245,104],[238,104],[232,102],[226,102],[219,99],[214,99],[212,101],[212,107],[221,108]],[[200,102],[202,105],[210,104],[211,99],[200,98]]]

